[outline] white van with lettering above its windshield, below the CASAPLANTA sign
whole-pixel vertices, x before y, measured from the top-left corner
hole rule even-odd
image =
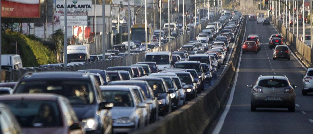
[[[90,54],[86,45],[67,46],[67,66],[84,64],[90,61]]]

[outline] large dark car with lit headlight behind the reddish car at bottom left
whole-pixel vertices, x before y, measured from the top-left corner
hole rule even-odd
[[[87,133],[112,129],[112,117],[93,75],[76,72],[40,72],[24,75],[14,93],[53,93],[67,97]],[[101,115],[100,115],[101,114]],[[88,123],[87,123],[88,122]],[[92,123],[91,123],[92,122]]]

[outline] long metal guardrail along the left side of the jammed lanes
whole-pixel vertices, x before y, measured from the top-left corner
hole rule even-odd
[[[169,43],[152,49],[148,52],[156,52],[156,51],[175,51],[181,48],[184,44],[189,43],[190,40],[195,39],[198,33],[202,32],[202,29],[205,29],[207,24],[210,22],[214,22],[220,17],[220,15],[213,17],[212,19],[203,22],[198,25],[196,28],[192,29],[189,33],[185,33],[181,37],[176,38],[175,40],[170,41]],[[100,49],[100,48],[99,48]],[[102,48],[101,48],[102,49]],[[139,53],[134,55],[129,55],[123,58],[117,59],[105,59],[99,60],[95,62],[86,62],[84,64],[69,66],[67,71],[77,71],[77,70],[88,70],[88,69],[101,69],[106,70],[111,66],[129,66],[131,64],[136,64],[137,62],[142,62],[145,59],[146,53]],[[28,72],[41,72],[41,71],[64,71],[64,67],[30,67],[25,69],[18,70],[2,70],[2,80],[1,82],[13,82],[18,81],[25,73]]]

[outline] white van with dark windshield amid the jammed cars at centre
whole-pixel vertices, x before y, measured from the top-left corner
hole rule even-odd
[[[171,69],[173,65],[171,52],[148,52],[145,56],[145,62],[148,61],[156,62],[160,70]]]

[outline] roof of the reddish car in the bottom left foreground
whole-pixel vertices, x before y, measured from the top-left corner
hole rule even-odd
[[[61,95],[49,94],[49,93],[18,93],[12,95],[1,95],[0,100],[45,100],[56,101]]]

